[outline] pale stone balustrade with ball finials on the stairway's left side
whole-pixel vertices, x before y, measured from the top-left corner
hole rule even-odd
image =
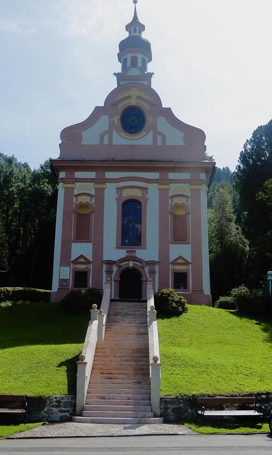
[[[96,351],[96,342],[104,340],[106,329],[106,319],[104,317],[109,309],[111,298],[111,283],[109,278],[106,280],[106,289],[103,293],[101,309],[97,305],[92,305],[91,320],[88,325],[82,353],[79,356],[76,375],[76,415],[80,415],[84,409],[86,394],[88,390],[89,379],[91,375],[92,364]]]

